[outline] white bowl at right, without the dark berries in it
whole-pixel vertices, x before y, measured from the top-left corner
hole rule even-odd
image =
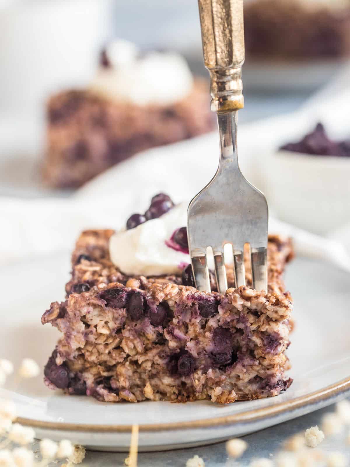
[[[350,221],[350,157],[279,150],[261,170],[261,189],[279,219],[319,234]]]

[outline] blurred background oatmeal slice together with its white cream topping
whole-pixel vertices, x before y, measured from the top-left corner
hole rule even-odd
[[[206,81],[177,54],[135,47],[112,42],[86,88],[50,97],[46,184],[78,187],[141,151],[214,129]]]

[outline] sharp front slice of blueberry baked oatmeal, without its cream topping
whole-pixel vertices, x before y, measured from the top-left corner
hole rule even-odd
[[[288,239],[269,237],[267,291],[250,288],[245,252],[247,286],[233,288],[228,269],[231,287],[221,295],[192,287],[190,267],[182,275],[123,274],[110,257],[113,233],[80,235],[66,300],[42,316],[62,333],[45,367],[49,388],[111,402],[218,403],[288,388],[293,305],[282,281],[293,256]]]

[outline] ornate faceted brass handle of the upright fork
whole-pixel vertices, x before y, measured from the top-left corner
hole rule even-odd
[[[204,65],[210,73],[211,110],[244,107],[243,0],[198,0]]]

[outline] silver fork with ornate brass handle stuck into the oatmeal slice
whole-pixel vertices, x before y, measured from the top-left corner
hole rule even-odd
[[[235,286],[245,285],[243,251],[250,244],[252,282],[267,291],[267,223],[265,196],[238,166],[237,113],[243,108],[243,0],[198,0],[204,64],[210,72],[211,108],[217,112],[220,162],[215,176],[190,202],[187,233],[198,290],[210,292],[206,249],[214,254],[217,290],[225,293],[224,245],[233,248]]]

